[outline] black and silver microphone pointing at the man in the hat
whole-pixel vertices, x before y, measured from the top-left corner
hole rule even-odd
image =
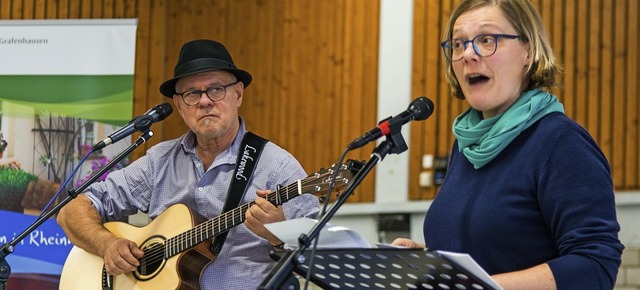
[[[149,127],[151,127],[151,124],[164,120],[164,118],[171,115],[172,112],[173,107],[171,107],[171,104],[169,103],[157,105],[149,109],[146,113],[133,118],[129,121],[129,124],[120,128],[118,131],[111,133],[107,139],[93,145],[93,148],[91,149],[93,151],[100,150],[107,145],[122,140],[124,137],[127,137],[136,131],[147,131],[149,130]]]

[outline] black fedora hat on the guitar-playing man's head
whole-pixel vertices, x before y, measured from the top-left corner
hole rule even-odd
[[[217,41],[208,39],[192,40],[180,49],[178,63],[173,70],[173,78],[160,85],[160,93],[173,98],[176,93],[176,82],[181,77],[213,70],[225,70],[236,76],[245,88],[251,83],[248,72],[236,67],[229,51]]]

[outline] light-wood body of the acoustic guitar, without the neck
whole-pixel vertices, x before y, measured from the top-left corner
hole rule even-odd
[[[122,222],[108,222],[105,227],[118,237],[135,242],[142,250],[163,244],[206,221],[182,204],[169,207],[144,227]],[[149,271],[138,271],[113,277],[113,289],[200,289],[202,270],[215,260],[207,240],[169,259],[150,264]],[[144,259],[144,257],[143,257]],[[102,289],[102,257],[73,247],[62,269],[60,289]]]

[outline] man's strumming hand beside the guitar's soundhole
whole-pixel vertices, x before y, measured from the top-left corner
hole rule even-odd
[[[134,271],[140,266],[138,259],[143,255],[144,252],[134,242],[119,238],[110,243],[104,252],[105,269],[114,276]]]

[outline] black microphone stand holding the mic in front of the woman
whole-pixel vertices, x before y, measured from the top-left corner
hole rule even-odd
[[[299,284],[297,280],[292,279],[291,273],[296,266],[305,263],[305,257],[302,255],[311,241],[316,239],[320,234],[320,230],[329,222],[333,215],[338,211],[338,208],[344,204],[347,198],[353,194],[355,188],[360,185],[364,177],[373,169],[373,167],[386,157],[387,154],[400,154],[406,151],[407,144],[402,137],[400,129],[402,127],[401,122],[389,123],[390,134],[387,135],[387,139],[382,141],[371,154],[371,158],[362,167],[358,174],[353,177],[353,182],[345,189],[345,191],[338,196],[338,199],[329,211],[322,216],[322,218],[316,223],[316,225],[309,231],[309,234],[301,234],[298,237],[298,248],[293,251],[286,252],[278,261],[278,263],[271,270],[271,273],[262,281],[262,284],[258,286],[259,290],[276,290],[276,289],[298,289]],[[309,269],[312,267],[309,266]],[[298,286],[298,287],[296,287]]]

